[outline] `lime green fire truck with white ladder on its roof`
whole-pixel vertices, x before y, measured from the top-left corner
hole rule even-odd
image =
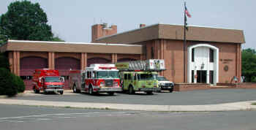
[[[135,91],[143,91],[153,94],[153,91],[160,91],[157,75],[159,71],[165,70],[165,62],[160,59],[149,59],[146,61],[129,61],[117,63],[121,87],[129,94]]]

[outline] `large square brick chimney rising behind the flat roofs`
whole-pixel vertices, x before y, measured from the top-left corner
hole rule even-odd
[[[91,42],[95,42],[100,37],[113,35],[117,33],[117,26],[108,26],[107,23],[96,24],[91,26]]]

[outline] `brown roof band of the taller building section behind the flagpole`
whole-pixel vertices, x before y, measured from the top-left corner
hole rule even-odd
[[[184,40],[184,26],[154,24],[96,39],[96,42],[132,44],[152,39]],[[244,43],[244,32],[236,29],[189,26],[187,40],[200,42]]]

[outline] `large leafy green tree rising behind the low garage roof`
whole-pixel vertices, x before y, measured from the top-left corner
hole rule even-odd
[[[38,3],[15,1],[1,15],[1,34],[9,39],[51,41],[53,33],[47,22],[47,15]]]

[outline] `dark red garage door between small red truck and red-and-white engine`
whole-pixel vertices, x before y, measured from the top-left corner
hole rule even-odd
[[[55,59],[55,69],[59,70],[59,74],[65,77],[65,89],[68,88],[68,75],[70,69],[80,70],[80,60],[70,57],[61,57]]]

